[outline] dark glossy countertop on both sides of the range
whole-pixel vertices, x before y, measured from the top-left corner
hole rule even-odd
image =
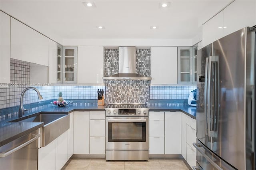
[[[196,119],[196,107],[189,106],[187,100],[150,100],[150,111],[181,111]],[[25,116],[35,113],[61,113],[68,114],[73,111],[105,111],[104,106],[98,106],[97,100],[74,100],[65,107],[57,107],[52,104],[42,106],[31,105],[31,111],[26,111]],[[0,146],[15,140],[16,138],[42,127],[43,123],[8,123],[18,119],[18,114],[5,117],[0,121]],[[20,128],[22,125],[22,128]]]

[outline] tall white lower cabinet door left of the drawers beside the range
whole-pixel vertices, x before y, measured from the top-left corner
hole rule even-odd
[[[90,112],[74,112],[74,154],[90,153]]]

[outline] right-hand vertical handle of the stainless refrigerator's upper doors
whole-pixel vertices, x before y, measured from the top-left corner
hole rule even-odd
[[[210,56],[208,62],[208,80],[207,80],[207,122],[208,136],[214,136],[217,131],[217,115],[218,115],[218,89],[219,89],[219,58],[218,56]],[[216,101],[217,99],[217,101]],[[214,101],[214,103],[213,103]],[[217,114],[216,114],[217,112]]]

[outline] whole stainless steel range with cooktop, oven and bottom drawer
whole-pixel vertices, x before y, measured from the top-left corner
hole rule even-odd
[[[106,110],[106,160],[148,160],[148,107],[111,104]]]

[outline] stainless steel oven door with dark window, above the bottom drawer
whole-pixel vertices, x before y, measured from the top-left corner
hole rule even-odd
[[[148,117],[106,117],[106,150],[148,150]]]

